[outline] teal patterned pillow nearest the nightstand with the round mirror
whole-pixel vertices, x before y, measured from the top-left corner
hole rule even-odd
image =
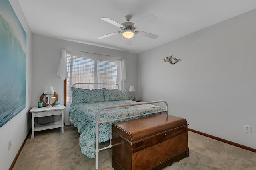
[[[104,93],[102,89],[83,89],[83,88],[71,88],[72,103],[89,103],[89,102],[103,102]]]

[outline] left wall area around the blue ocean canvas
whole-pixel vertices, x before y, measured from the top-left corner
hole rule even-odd
[[[27,21],[20,8],[18,0],[9,0],[16,16],[27,34],[26,56],[26,108],[0,128],[0,169],[8,170],[14,160],[26,135],[30,130],[30,97],[31,97],[31,39],[32,34]],[[8,150],[8,141],[11,139],[12,147]]]

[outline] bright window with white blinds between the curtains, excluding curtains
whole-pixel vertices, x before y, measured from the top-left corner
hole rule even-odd
[[[67,51],[66,102],[71,102],[71,86],[75,83],[116,83],[117,61],[86,59]],[[116,88],[115,85],[113,85]],[[78,88],[102,88],[100,85],[78,85]],[[107,87],[105,88],[113,88]]]

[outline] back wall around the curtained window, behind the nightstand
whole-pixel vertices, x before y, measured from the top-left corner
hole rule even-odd
[[[96,47],[72,41],[65,41],[40,35],[32,35],[32,106],[38,106],[40,96],[47,85],[52,85],[58,94],[61,104],[64,102],[64,80],[57,76],[58,64],[62,48],[71,48],[78,51],[120,56],[126,58],[126,82],[124,86],[129,90],[134,85],[137,90],[137,55],[124,51]],[[69,118],[66,118],[68,122]]]

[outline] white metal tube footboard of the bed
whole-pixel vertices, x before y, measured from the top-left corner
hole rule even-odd
[[[130,119],[130,118],[133,118],[133,117],[140,117],[140,116],[142,116],[142,115],[136,115],[136,116],[130,116],[130,117],[124,117],[124,118],[120,118],[120,119],[114,119],[114,120],[99,122],[99,115],[100,115],[100,113],[104,109],[110,109],[110,108],[116,108],[116,107],[126,107],[126,106],[135,106],[135,105],[142,105],[142,104],[153,104],[153,103],[154,104],[155,103],[165,103],[166,104],[166,110],[156,111],[156,112],[153,112],[153,113],[145,113],[145,114],[142,114],[142,115],[155,114],[155,113],[160,113],[160,112],[165,112],[165,111],[168,114],[168,104],[164,100],[158,100],[158,101],[152,101],[152,102],[138,102],[138,103],[132,103],[132,104],[121,104],[121,105],[114,105],[114,106],[105,106],[105,107],[102,107],[97,112],[97,115],[96,115],[96,143],[95,143],[95,169],[99,168],[99,151],[112,147],[112,145],[111,145],[111,122],[122,120],[122,119]],[[107,123],[107,122],[109,122],[109,126],[110,126],[109,146],[99,149],[99,124],[100,123]]]

